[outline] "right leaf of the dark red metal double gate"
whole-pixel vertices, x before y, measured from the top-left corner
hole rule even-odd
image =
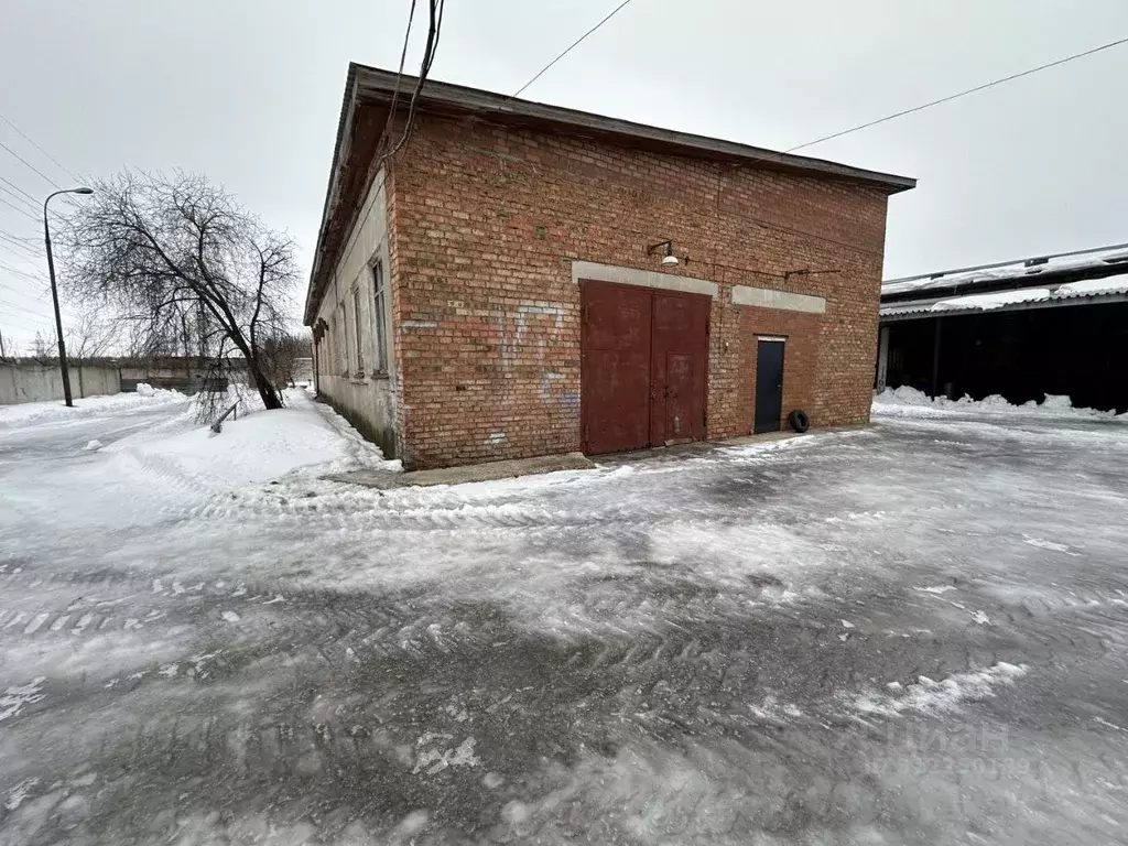
[[[651,446],[705,438],[710,298],[654,293],[651,335]]]

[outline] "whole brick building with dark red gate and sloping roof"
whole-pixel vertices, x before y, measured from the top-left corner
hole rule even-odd
[[[319,394],[387,455],[869,420],[913,179],[432,81],[385,157],[395,87],[350,67],[305,312]]]

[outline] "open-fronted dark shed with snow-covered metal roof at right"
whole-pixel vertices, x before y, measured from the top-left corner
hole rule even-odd
[[[1128,409],[1128,244],[884,282],[878,387],[901,385]]]

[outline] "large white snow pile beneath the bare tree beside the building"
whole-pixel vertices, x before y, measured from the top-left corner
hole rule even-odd
[[[379,448],[351,428],[342,431],[303,391],[287,391],[285,399],[287,408],[228,418],[220,434],[208,426],[156,438],[150,432],[125,438],[100,452],[115,456],[117,466],[112,472],[141,469],[171,486],[188,484],[197,490],[268,482],[301,468],[316,468],[316,473],[398,468],[398,462],[384,461]]]

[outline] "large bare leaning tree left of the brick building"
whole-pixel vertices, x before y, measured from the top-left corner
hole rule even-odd
[[[120,315],[134,354],[230,345],[263,404],[281,407],[264,345],[287,333],[293,241],[203,176],[126,171],[94,187],[63,232],[72,293]]]

